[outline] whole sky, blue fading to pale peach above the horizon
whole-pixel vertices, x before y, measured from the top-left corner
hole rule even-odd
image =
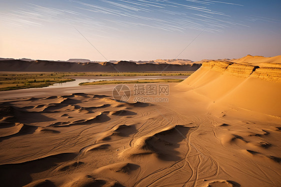
[[[0,0],[0,57],[280,55],[280,8],[281,0]]]

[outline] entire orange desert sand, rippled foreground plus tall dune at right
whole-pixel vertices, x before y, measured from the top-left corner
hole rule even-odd
[[[281,59],[244,58],[203,62],[168,102],[0,92],[1,185],[281,186]]]

